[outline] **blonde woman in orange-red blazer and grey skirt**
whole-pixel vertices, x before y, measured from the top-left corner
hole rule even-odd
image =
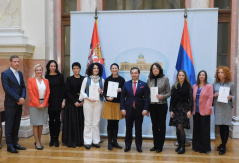
[[[34,66],[33,72],[33,78],[28,79],[30,122],[31,125],[33,125],[35,148],[37,150],[43,150],[41,135],[43,125],[47,124],[48,120],[50,88],[48,80],[42,76],[43,67],[40,64]]]

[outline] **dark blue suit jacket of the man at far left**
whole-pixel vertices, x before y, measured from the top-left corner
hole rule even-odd
[[[17,78],[9,68],[1,74],[2,87],[5,91],[4,106],[18,106],[17,102],[21,97],[26,97],[26,86],[23,80],[22,72],[18,71],[20,77],[20,85]]]

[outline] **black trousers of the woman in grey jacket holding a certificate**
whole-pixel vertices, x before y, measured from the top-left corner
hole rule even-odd
[[[165,142],[166,116],[168,112],[168,105],[150,104],[149,111],[152,121],[154,147],[162,149]]]

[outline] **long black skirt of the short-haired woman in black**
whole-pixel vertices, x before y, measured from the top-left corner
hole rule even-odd
[[[83,146],[83,107],[66,103],[63,113],[62,143],[68,147]]]

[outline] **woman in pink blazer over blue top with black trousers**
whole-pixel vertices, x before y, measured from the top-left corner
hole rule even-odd
[[[210,117],[212,115],[213,87],[207,82],[207,72],[201,70],[193,85],[193,142],[195,152],[211,151]]]

